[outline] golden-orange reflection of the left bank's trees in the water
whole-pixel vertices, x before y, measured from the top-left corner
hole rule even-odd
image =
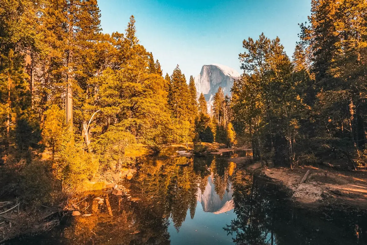
[[[205,190],[208,178],[223,197],[234,169],[233,163],[215,156],[141,158],[135,165],[135,176],[121,183],[130,190],[130,200],[106,192],[90,194],[78,205],[91,216],[69,219],[35,244],[48,244],[50,237],[57,238],[51,244],[170,244],[169,219],[179,231],[188,210],[194,218],[197,191]],[[106,201],[98,205],[95,197],[108,199],[112,216]]]

